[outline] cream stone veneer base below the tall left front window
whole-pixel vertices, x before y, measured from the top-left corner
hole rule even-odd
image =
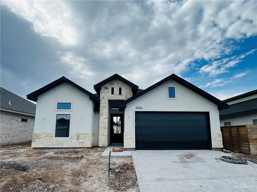
[[[33,133],[31,147],[93,147],[94,133],[71,133],[70,138],[53,133]]]

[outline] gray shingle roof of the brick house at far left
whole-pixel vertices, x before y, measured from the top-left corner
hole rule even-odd
[[[27,114],[36,114],[36,104],[0,87],[0,105],[1,109],[8,109]],[[11,105],[9,102],[11,101]]]

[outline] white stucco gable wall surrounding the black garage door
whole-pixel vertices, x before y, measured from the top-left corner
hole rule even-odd
[[[170,85],[176,86],[177,99],[167,99],[167,86]],[[143,109],[135,109],[136,107]],[[133,143],[128,143],[127,146],[125,143],[125,148],[135,148],[136,111],[209,112],[212,147],[217,147],[214,145],[213,134],[221,133],[218,106],[173,80],[163,83],[127,104],[124,114],[124,143],[125,137],[129,136],[131,139],[128,140],[133,138]]]

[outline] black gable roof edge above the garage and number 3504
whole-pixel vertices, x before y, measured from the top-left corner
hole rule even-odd
[[[175,75],[175,74],[172,74],[162,80],[160,80],[158,83],[155,83],[154,85],[142,90],[141,92],[139,92],[138,94],[136,94],[135,96],[133,97],[130,97],[129,99],[125,100],[124,102],[120,103],[118,105],[118,108],[120,111],[123,111],[125,108],[126,108],[126,105],[133,101],[134,99],[144,95],[145,93],[148,93],[149,91],[153,90],[154,88],[158,87],[159,85],[167,82],[168,80],[174,80],[176,82],[178,82],[179,84],[187,87],[188,89],[194,91],[195,93],[203,96],[204,98],[208,99],[209,101],[215,103],[216,105],[218,105],[218,109],[219,110],[222,110],[222,109],[227,109],[228,108],[228,104],[222,102],[221,100],[217,99],[216,97],[210,95],[209,93],[205,92],[204,90],[196,87],[195,85],[187,82],[185,79],[182,79],[181,77]]]

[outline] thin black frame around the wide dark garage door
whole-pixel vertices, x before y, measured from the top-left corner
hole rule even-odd
[[[207,119],[209,150],[212,150],[212,133],[210,128],[210,112],[209,111],[135,111],[135,150],[136,150],[136,114],[137,113],[205,113]]]

